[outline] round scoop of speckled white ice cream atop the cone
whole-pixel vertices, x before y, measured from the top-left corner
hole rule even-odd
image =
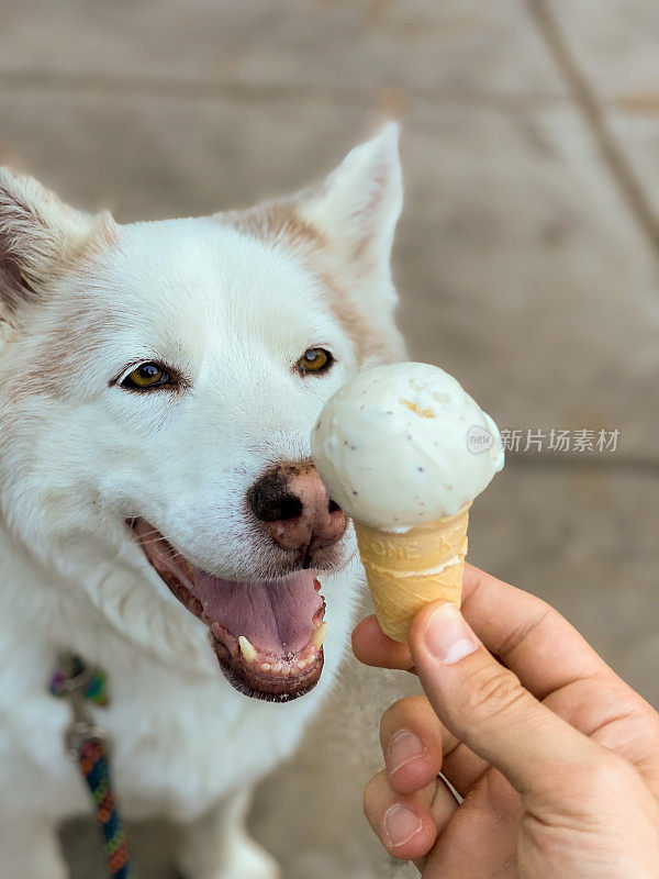
[[[311,448],[346,513],[390,532],[455,515],[503,467],[492,419],[429,364],[360,372],[325,404]]]

